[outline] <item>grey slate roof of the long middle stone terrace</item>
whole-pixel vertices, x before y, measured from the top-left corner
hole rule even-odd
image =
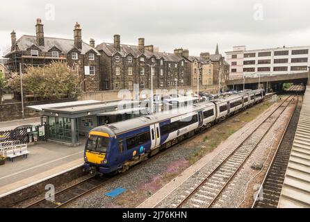
[[[102,42],[101,44],[96,46],[98,51],[104,51],[107,56],[114,56],[116,53],[119,53],[121,56],[126,57],[131,54],[134,58],[139,58],[144,55],[146,58],[151,58],[155,56],[156,59],[163,58],[165,61],[170,62],[179,62],[183,58],[181,56],[175,55],[174,53],[164,53],[164,52],[154,52],[148,51],[145,49],[145,53],[142,53],[138,46],[133,46],[129,44],[121,44],[120,51],[117,51],[114,47],[113,43]]]

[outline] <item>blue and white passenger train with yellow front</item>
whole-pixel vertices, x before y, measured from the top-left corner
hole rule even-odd
[[[89,173],[123,173],[196,133],[263,101],[263,89],[193,104],[193,109],[158,112],[90,130],[84,149],[83,170]]]

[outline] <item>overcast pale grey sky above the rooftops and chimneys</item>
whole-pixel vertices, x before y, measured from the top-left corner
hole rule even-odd
[[[17,39],[35,35],[35,19],[42,18],[44,35],[73,38],[74,23],[82,27],[89,42],[154,44],[160,51],[177,47],[190,55],[201,51],[220,53],[235,45],[247,49],[303,46],[310,41],[310,1],[306,0],[15,0],[1,1],[0,56],[10,46],[14,29]]]

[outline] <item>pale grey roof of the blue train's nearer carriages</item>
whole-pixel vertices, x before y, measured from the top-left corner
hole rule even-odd
[[[193,111],[201,110],[202,108],[208,108],[208,107],[214,107],[214,103],[211,103],[209,101],[195,103],[193,104]],[[175,111],[177,111],[178,113],[175,113]],[[136,126],[135,128],[142,128],[144,126],[148,126],[149,124],[158,123],[160,121],[164,121],[165,119],[171,119],[181,114],[187,114],[187,113],[189,113],[188,109],[178,108],[170,110],[170,112],[158,112],[156,114],[149,114],[143,117],[128,119],[117,123],[97,126],[96,128],[93,128],[92,131],[100,131],[108,133],[108,135],[110,136],[115,136],[118,134],[125,133],[129,130],[132,130],[133,126]]]

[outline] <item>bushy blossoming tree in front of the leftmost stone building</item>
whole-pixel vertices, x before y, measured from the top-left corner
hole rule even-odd
[[[28,67],[23,75],[23,91],[44,99],[78,94],[79,75],[66,62],[52,62],[44,67]],[[13,74],[7,86],[20,92],[20,76]]]

